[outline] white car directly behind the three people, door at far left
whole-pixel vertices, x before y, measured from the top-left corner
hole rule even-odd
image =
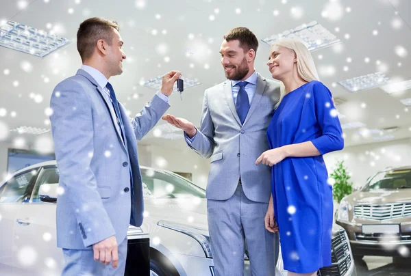
[[[171,171],[141,167],[141,172],[145,219],[141,227],[129,227],[126,275],[141,275],[134,269],[147,265],[153,276],[213,276],[206,192]],[[57,165],[49,161],[16,171],[0,184],[0,275],[60,275],[58,180]],[[145,233],[147,252],[142,249],[148,243]],[[319,275],[356,275],[347,240],[342,228],[334,229],[333,265]],[[244,275],[250,275],[249,267],[246,251]],[[286,274],[280,254],[276,275]]]

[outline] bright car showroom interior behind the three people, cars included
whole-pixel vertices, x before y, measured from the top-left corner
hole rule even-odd
[[[184,91],[175,85],[166,114],[197,129],[204,92],[227,81],[219,53],[227,31],[247,27],[256,35],[254,68],[270,80],[271,44],[302,40],[332,92],[344,138],[343,150],[323,156],[335,229],[333,269],[318,275],[411,275],[408,0],[1,0],[0,275],[61,273],[55,205],[62,174],[50,100],[82,66],[77,29],[95,16],[120,26],[127,58],[110,83],[129,118],[160,90],[162,76],[177,70]],[[206,208],[210,158],[162,119],[137,148],[145,212],[142,226],[127,232],[125,274],[215,275]],[[114,156],[110,145],[103,155]],[[226,158],[219,157],[211,162]],[[244,254],[244,275],[252,275]],[[281,256],[276,275],[287,275]]]

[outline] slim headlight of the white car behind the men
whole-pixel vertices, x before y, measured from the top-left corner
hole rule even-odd
[[[174,223],[171,221],[158,221],[158,226],[165,227],[170,230],[186,234],[191,238],[197,240],[197,243],[201,245],[207,258],[212,258],[210,247],[210,236],[207,230],[203,230],[197,227],[192,227],[184,224]],[[247,253],[244,253],[244,260],[249,260]]]

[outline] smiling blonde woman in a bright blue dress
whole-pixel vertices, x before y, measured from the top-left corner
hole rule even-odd
[[[267,129],[271,150],[256,161],[272,166],[266,229],[278,226],[289,276],[314,276],[331,265],[332,187],[323,154],[343,149],[343,130],[332,94],[302,42],[280,40],[267,65],[281,82],[281,96]]]

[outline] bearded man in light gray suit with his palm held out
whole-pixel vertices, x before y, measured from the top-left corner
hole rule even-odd
[[[264,226],[264,215],[270,216],[271,168],[256,166],[256,159],[269,150],[266,129],[279,85],[254,70],[257,48],[258,40],[247,28],[224,36],[220,53],[228,80],[206,89],[199,130],[185,119],[163,117],[184,130],[192,150],[211,160],[206,195],[218,276],[243,274],[245,244],[251,275],[275,275],[278,233],[275,225],[272,232]]]

